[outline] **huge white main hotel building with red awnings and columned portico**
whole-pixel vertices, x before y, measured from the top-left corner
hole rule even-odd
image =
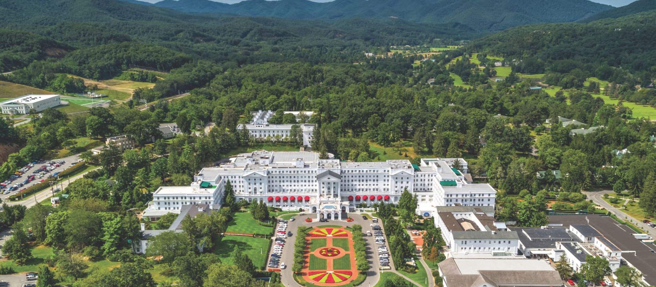
[[[461,170],[455,170],[449,164],[456,160],[422,159],[419,166],[407,160],[346,163],[319,159],[314,152],[253,151],[218,168],[203,168],[194,176],[193,188],[161,187],[144,216],[150,216],[149,210],[179,210],[203,186],[215,187],[203,192],[211,194],[210,204],[220,204],[228,180],[237,201],[266,202],[283,210],[304,208],[317,218],[342,219],[343,212],[361,203],[396,204],[404,189],[418,196],[417,214],[425,216],[433,216],[436,206],[494,206],[495,189],[487,183],[466,183],[467,164],[459,159]]]

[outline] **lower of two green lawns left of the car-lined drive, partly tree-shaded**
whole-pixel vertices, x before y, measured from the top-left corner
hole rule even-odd
[[[255,267],[263,268],[266,263],[269,240],[247,236],[228,235],[215,240],[215,246],[214,254],[218,255],[223,263],[232,264],[233,262],[230,253],[232,250],[239,247],[244,254],[251,258]]]

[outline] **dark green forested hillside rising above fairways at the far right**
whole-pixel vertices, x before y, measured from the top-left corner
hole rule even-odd
[[[569,64],[579,68],[586,64],[605,64],[622,67],[625,71],[654,73],[654,39],[656,10],[588,24],[517,27],[473,41],[466,48],[504,56],[506,59],[523,60],[518,68],[541,66],[544,69],[545,63],[573,60]],[[613,73],[611,70],[604,70]]]

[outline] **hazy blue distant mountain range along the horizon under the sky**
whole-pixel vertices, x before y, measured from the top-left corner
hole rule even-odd
[[[129,0],[133,3],[138,1]],[[144,2],[145,3],[145,2]],[[408,22],[459,22],[478,30],[498,31],[538,23],[575,22],[613,9],[588,0],[247,0],[228,5],[210,0],[155,3],[183,12],[227,13],[293,19],[400,18]]]

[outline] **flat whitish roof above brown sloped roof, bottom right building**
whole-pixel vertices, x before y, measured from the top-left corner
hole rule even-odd
[[[461,274],[478,275],[479,270],[522,270],[522,271],[554,271],[544,260],[539,259],[483,259],[483,258],[454,258]]]

